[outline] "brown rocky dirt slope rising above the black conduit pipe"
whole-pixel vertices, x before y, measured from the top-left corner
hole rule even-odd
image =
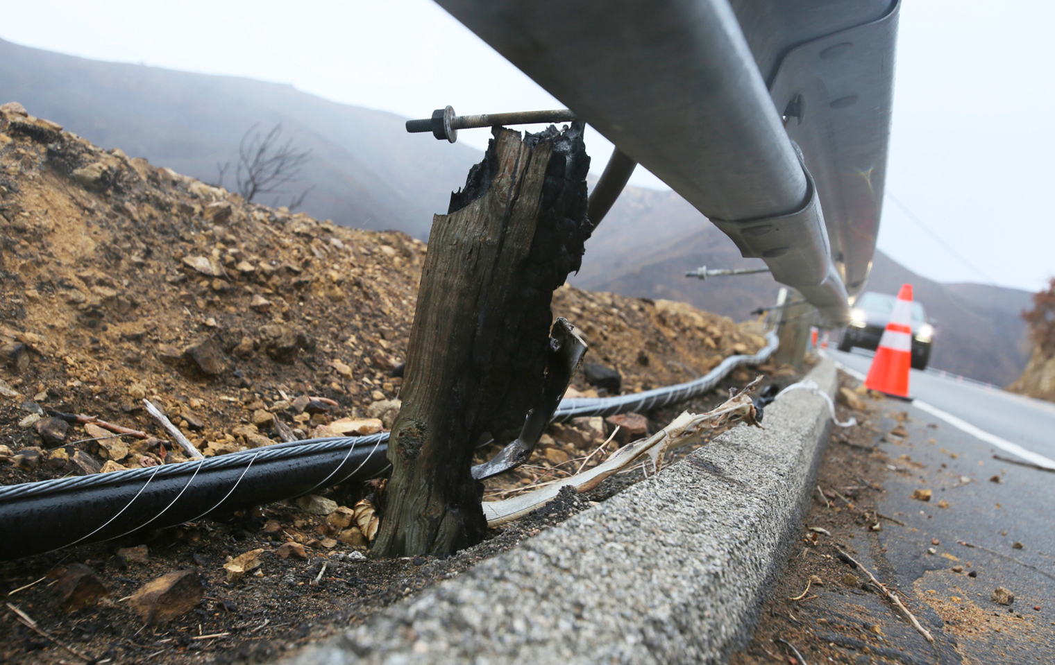
[[[272,413],[307,436],[398,396],[423,242],[246,204],[11,110],[0,133],[0,377],[20,393],[0,403],[8,447],[41,445],[37,407],[160,434],[149,397],[208,455],[277,441]],[[570,287],[555,312],[629,391],[763,343],[689,306]],[[333,406],[298,412],[302,395]]]

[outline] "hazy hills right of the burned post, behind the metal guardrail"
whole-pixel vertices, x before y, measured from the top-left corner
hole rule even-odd
[[[705,282],[685,271],[764,267],[740,256],[732,242],[672,192],[628,188],[587,243],[582,270],[572,283],[628,296],[683,300],[744,319],[773,302],[776,285],[767,274],[715,277]],[[642,241],[642,237],[647,238]],[[1005,386],[1029,358],[1021,312],[1031,294],[977,283],[941,283],[917,275],[876,253],[869,290],[897,293],[915,287],[916,298],[938,321],[932,366]]]

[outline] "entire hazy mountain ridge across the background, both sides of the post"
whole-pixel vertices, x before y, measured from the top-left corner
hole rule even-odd
[[[0,103],[5,101],[19,101],[98,145],[206,182],[215,182],[217,162],[235,158],[250,125],[260,122],[266,130],[282,122],[285,137],[312,151],[296,185],[314,187],[305,212],[421,239],[482,156],[464,144],[408,135],[405,118],[395,114],[330,102],[290,85],[99,62],[0,39]],[[233,187],[230,180],[227,185]],[[742,258],[673,192],[627,188],[588,241],[582,270],[571,281],[683,300],[737,320],[771,304],[780,286],[766,274],[706,282],[684,276],[704,265],[763,266]],[[939,321],[934,366],[1001,386],[1021,373],[1028,350],[1019,314],[1029,293],[934,282],[878,253],[868,288],[894,293],[902,281],[914,283]]]

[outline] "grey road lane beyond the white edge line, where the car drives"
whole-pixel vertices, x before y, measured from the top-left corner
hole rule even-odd
[[[827,353],[862,374],[866,374],[871,365],[870,352],[855,349],[851,353],[843,353],[828,349]],[[1055,404],[918,370],[912,370],[908,382],[913,397],[1055,461]]]

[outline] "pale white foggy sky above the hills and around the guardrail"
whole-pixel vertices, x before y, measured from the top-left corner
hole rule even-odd
[[[1037,290],[1055,275],[1044,195],[1055,190],[1055,3],[915,0],[900,25],[888,189],[973,268],[890,200],[880,248],[940,281]],[[429,0],[0,0],[0,38],[292,83],[407,117],[446,104],[461,113],[561,105]],[[481,149],[487,136],[459,132]],[[587,141],[602,168],[611,144],[596,132]],[[647,173],[632,182],[664,187]]]

